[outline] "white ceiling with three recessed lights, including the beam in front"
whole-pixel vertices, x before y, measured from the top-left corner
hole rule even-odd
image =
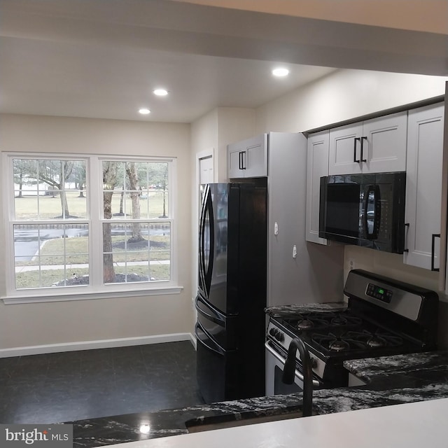
[[[0,0],[0,112],[190,123],[329,67],[444,76],[446,50],[442,34],[168,0]],[[288,78],[271,76],[279,62]]]

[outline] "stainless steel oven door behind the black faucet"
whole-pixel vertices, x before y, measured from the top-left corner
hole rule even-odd
[[[294,383],[284,384],[281,380],[286,359],[276,350],[274,344],[267,340],[266,349],[266,396],[283,395],[303,391],[303,375],[295,370]],[[321,383],[313,379],[313,388],[321,387]]]

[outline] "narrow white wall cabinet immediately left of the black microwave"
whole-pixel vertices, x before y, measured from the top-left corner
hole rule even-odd
[[[330,132],[310,134],[307,142],[307,224],[306,239],[313,243],[328,244],[319,238],[319,197],[321,177],[328,176],[328,149]]]

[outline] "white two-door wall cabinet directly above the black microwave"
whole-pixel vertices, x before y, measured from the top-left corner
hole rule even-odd
[[[328,174],[406,169],[407,112],[330,130]]]

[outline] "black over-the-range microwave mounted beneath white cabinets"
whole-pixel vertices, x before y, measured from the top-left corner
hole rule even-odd
[[[319,237],[403,253],[405,195],[405,172],[321,177]]]

